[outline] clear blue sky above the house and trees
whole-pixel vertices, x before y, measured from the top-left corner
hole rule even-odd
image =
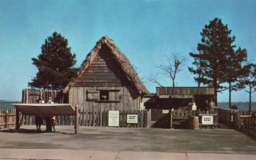
[[[36,75],[31,58],[41,53],[53,31],[68,39],[80,66],[96,42],[107,35],[137,66],[139,76],[157,72],[164,55],[178,52],[188,57],[177,75],[177,87],[197,86],[188,72],[188,53],[200,42],[200,32],[215,17],[228,24],[234,44],[256,58],[256,1],[11,1],[0,0],[0,100],[21,100],[21,91]],[[255,61],[253,61],[255,63]],[[164,86],[172,81],[159,76]],[[147,82],[147,81],[146,81]],[[145,83],[150,92],[157,85]],[[228,101],[228,92],[218,94]],[[248,93],[232,92],[232,101],[249,101]],[[256,95],[252,95],[256,101]]]

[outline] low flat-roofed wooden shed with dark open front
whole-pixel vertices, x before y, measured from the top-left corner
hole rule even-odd
[[[156,108],[177,109],[196,103],[200,109],[204,101],[214,101],[213,87],[156,87]]]

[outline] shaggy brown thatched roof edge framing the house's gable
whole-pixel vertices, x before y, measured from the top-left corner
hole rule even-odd
[[[125,55],[116,47],[112,40],[110,40],[107,36],[103,36],[97,43],[96,46],[91,50],[91,52],[87,55],[86,59],[76,72],[75,76],[70,80],[68,85],[64,88],[63,92],[67,93],[68,90],[74,85],[76,80],[82,76],[84,71],[89,67],[92,63],[93,59],[96,57],[97,53],[100,51],[102,47],[108,47],[110,50],[111,56],[115,57],[117,64],[124,71],[125,76],[128,81],[131,82],[133,87],[137,90],[138,94],[149,94],[147,88],[141,82],[137,72],[132,67],[130,61],[125,57]]]

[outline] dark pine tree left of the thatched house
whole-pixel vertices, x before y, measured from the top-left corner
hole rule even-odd
[[[31,88],[62,89],[74,76],[76,68],[76,54],[71,53],[68,40],[61,34],[54,32],[45,39],[41,47],[42,53],[38,59],[32,58],[38,72],[32,82],[28,82]]]

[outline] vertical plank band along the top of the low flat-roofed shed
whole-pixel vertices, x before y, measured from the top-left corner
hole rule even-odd
[[[159,95],[214,95],[213,87],[156,87]]]

